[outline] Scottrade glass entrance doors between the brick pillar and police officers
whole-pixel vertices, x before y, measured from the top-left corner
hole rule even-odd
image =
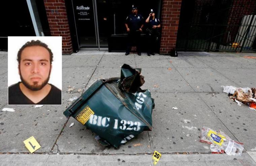
[[[107,50],[106,4],[106,0],[72,0],[79,50]]]

